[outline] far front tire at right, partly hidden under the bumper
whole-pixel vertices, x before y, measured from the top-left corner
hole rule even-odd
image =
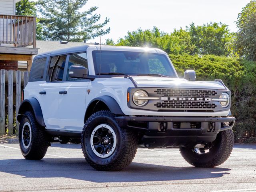
[[[234,146],[233,130],[218,133],[214,145],[208,153],[198,154],[193,149],[180,148],[182,157],[189,164],[196,167],[210,168],[224,163],[230,156]]]

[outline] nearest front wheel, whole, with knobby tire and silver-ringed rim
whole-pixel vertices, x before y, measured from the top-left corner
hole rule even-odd
[[[137,151],[134,132],[120,128],[114,115],[98,111],[84,125],[81,146],[86,161],[97,170],[116,171],[128,166]]]

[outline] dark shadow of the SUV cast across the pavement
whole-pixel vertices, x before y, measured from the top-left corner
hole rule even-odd
[[[118,172],[94,170],[84,158],[44,158],[43,160],[0,160],[0,172],[26,178],[66,177],[90,182],[147,182],[220,178],[228,168],[174,167],[132,162]]]

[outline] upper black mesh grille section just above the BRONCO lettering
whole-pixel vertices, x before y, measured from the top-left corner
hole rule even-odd
[[[160,96],[166,96],[166,97],[210,98],[217,94],[217,92],[214,90],[192,90],[192,89],[157,89],[154,92]]]

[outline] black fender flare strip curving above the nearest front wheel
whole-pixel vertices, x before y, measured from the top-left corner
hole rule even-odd
[[[93,100],[90,101],[90,103],[88,104],[87,108],[86,108],[86,113],[88,112],[88,107],[90,106],[90,104],[92,104],[92,102],[94,101],[101,101],[104,102],[104,104],[106,104],[106,106],[108,106],[109,110],[111,113],[116,114],[116,115],[124,115],[124,113],[122,112],[119,104],[116,102],[116,100],[114,98],[112,98],[111,96],[100,96],[97,98],[94,98]],[[86,117],[86,113],[85,113],[85,117]]]

